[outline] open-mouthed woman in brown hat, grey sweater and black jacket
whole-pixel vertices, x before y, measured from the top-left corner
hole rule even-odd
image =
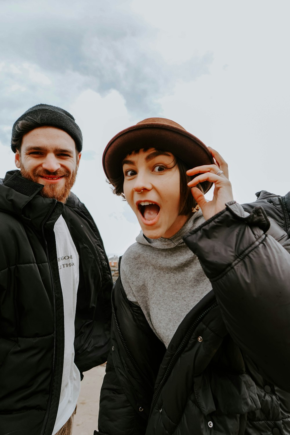
[[[113,137],[103,166],[142,231],[112,292],[95,434],[290,434],[290,257],[263,208],[163,118]]]

